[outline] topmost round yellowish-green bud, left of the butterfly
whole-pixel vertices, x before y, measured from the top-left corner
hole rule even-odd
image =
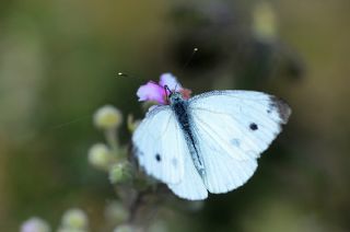
[[[112,105],[105,105],[94,114],[94,124],[100,129],[115,129],[120,126],[121,121],[120,111]]]

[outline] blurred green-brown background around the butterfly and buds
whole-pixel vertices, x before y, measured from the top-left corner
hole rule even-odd
[[[349,12],[348,0],[2,0],[0,230],[32,216],[55,229],[79,207],[104,231],[116,196],[88,163],[103,140],[92,115],[113,104],[141,118],[138,86],[171,71],[195,94],[265,91],[293,114],[246,185],[197,210],[170,204],[162,230],[349,231]]]

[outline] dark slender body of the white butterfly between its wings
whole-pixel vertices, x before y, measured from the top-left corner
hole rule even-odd
[[[187,148],[194,161],[194,164],[200,175],[205,172],[203,161],[199,153],[198,140],[194,132],[194,123],[190,111],[188,108],[188,101],[184,100],[180,93],[172,93],[170,95],[170,105],[176,116],[177,123],[179,124]]]

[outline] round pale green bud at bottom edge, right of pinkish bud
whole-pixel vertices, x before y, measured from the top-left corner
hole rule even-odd
[[[63,229],[88,229],[88,216],[81,209],[69,209],[62,217]]]

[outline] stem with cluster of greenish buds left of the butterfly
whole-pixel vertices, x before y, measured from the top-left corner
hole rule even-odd
[[[139,121],[133,120],[132,115],[127,117],[127,128],[133,132]],[[98,108],[94,114],[94,125],[104,132],[106,142],[93,144],[88,152],[89,163],[104,171],[108,175],[110,184],[119,197],[118,201],[109,202],[106,207],[105,217],[114,231],[138,231],[130,225],[132,201],[140,190],[153,187],[141,172],[138,171],[135,162],[129,160],[128,147],[120,144],[118,130],[122,124],[122,115],[119,109],[112,105]]]

